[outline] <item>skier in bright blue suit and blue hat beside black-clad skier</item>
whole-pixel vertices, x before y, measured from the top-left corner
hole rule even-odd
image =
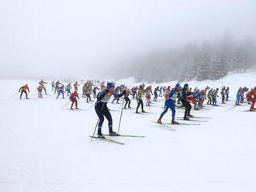
[[[168,98],[165,100],[164,104],[164,111],[161,113],[160,118],[158,118],[157,123],[162,123],[161,118],[163,118],[164,114],[168,111],[170,108],[172,111],[172,119],[171,124],[178,124],[178,122],[175,121],[175,100],[180,95],[181,85],[176,84],[173,89],[171,89],[171,93],[168,95]]]

